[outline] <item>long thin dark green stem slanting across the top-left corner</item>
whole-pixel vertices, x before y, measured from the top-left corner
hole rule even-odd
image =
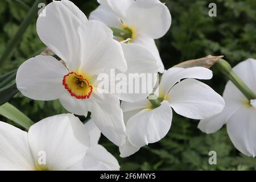
[[[28,11],[27,16],[23,20],[22,24],[19,27],[19,30],[14,35],[13,39],[10,40],[9,44],[7,44],[7,48],[5,49],[5,52],[3,52],[3,55],[0,58],[0,67],[2,67],[3,63],[9,59],[11,56],[11,52],[13,52],[13,49],[17,46],[17,44],[20,42],[22,35],[27,30],[27,27],[31,23],[31,21],[34,19],[35,15],[38,13],[38,4],[40,2],[44,2],[44,0],[36,0],[34,5],[31,7],[30,11]]]

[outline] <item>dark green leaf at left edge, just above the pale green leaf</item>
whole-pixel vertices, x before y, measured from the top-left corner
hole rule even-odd
[[[7,85],[0,89],[0,106],[8,102],[19,90],[16,84]]]

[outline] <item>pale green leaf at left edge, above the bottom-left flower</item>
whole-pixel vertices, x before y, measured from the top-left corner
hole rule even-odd
[[[0,106],[0,115],[14,121],[27,130],[34,124],[30,118],[8,102]]]

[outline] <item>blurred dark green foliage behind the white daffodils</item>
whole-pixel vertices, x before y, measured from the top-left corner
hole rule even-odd
[[[20,3],[23,2],[23,3]],[[33,4],[33,0],[0,0],[0,55]],[[50,1],[46,1],[49,3]],[[73,1],[86,15],[98,6],[96,0]],[[207,55],[225,55],[232,66],[249,57],[256,58],[255,0],[165,0],[171,11],[170,31],[156,40],[166,68],[182,60]],[[208,5],[217,5],[217,17],[208,16]],[[45,46],[36,34],[36,16],[10,59],[0,68],[0,75],[19,67]],[[207,84],[222,94],[226,79],[212,68],[214,77]],[[189,90],[188,90],[189,92]],[[10,101],[33,121],[66,113],[59,101],[33,101],[18,93]],[[8,121],[0,117],[1,121]],[[242,155],[231,143],[226,128],[215,134],[197,129],[198,121],[174,114],[167,136],[155,144],[141,148],[129,158],[119,158],[118,147],[102,137],[100,143],[112,152],[124,170],[254,170],[256,159]],[[14,123],[12,123],[15,125]],[[217,165],[208,164],[208,152],[217,152]]]

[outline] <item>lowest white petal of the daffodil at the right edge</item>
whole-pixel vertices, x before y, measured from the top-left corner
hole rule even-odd
[[[256,155],[256,109],[242,107],[227,122],[227,130],[234,146],[243,154]]]

